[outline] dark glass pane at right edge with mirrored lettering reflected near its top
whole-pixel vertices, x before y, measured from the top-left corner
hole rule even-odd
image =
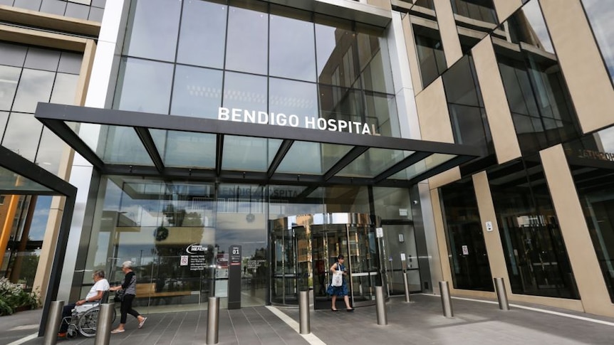
[[[614,127],[563,147],[605,286],[614,302]]]

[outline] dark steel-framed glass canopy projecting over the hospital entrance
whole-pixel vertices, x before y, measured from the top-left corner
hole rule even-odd
[[[412,186],[476,147],[40,103],[36,118],[103,174],[251,184]]]

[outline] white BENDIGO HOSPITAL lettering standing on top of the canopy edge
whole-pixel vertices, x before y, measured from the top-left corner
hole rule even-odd
[[[324,117],[311,117],[298,115],[286,115],[281,112],[262,112],[237,108],[219,107],[217,120],[247,122],[257,124],[274,124],[277,126],[303,127],[307,129],[320,129],[331,132],[349,132],[356,134],[380,135],[375,132],[375,124],[326,119]]]

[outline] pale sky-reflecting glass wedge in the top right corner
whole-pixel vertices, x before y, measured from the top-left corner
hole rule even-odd
[[[605,65],[614,80],[614,3],[604,0],[582,0],[590,26],[599,43]]]

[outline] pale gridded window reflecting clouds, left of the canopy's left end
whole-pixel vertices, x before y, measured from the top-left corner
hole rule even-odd
[[[72,105],[82,54],[0,42],[0,141],[58,174],[66,144],[34,118],[38,102]]]

